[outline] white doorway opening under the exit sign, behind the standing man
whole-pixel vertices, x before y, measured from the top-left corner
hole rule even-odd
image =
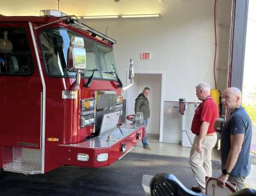
[[[127,114],[134,114],[135,100],[145,87],[150,88],[148,102],[150,107],[150,118],[148,119],[147,133],[154,134],[159,140],[163,124],[163,74],[162,73],[135,73],[134,84],[127,90]]]

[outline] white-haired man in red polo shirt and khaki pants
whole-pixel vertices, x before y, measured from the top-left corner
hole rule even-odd
[[[212,176],[211,153],[217,142],[214,122],[218,117],[218,107],[210,96],[211,87],[207,83],[196,86],[196,96],[202,101],[195,111],[191,131],[196,135],[190,151],[189,163],[196,182],[195,192],[205,192],[205,176]]]

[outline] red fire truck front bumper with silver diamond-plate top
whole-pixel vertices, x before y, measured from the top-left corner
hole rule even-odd
[[[81,167],[108,166],[129,153],[144,136],[144,126],[125,123],[120,128],[86,139],[84,142],[60,145],[59,163]]]

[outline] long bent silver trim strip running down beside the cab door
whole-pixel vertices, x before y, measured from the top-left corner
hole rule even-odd
[[[46,92],[46,87],[45,87],[45,80],[44,80],[44,75],[43,75],[43,71],[42,71],[42,66],[41,66],[41,62],[40,62],[40,59],[39,59],[39,55],[38,55],[38,49],[37,49],[37,46],[36,46],[36,40],[35,40],[35,34],[34,34],[34,31],[33,31],[33,27],[32,27],[32,23],[29,22],[29,29],[30,29],[30,32],[31,32],[31,37],[32,37],[32,41],[33,41],[33,45],[34,45],[34,49],[35,49],[35,54],[36,54],[36,61],[37,61],[37,64],[38,64],[38,70],[39,70],[39,73],[40,73],[40,77],[41,77],[41,80],[42,80],[42,86],[43,86],[43,89],[42,89],[42,103],[41,103],[41,147],[42,147],[42,174],[44,174],[44,156],[45,156],[45,92]]]

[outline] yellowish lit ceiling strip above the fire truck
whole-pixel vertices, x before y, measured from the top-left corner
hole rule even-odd
[[[116,0],[118,1],[118,0]],[[60,11],[68,15],[132,15],[161,13],[163,1],[180,0],[60,0]],[[58,0],[0,0],[0,14],[39,15],[40,10],[58,10]]]

